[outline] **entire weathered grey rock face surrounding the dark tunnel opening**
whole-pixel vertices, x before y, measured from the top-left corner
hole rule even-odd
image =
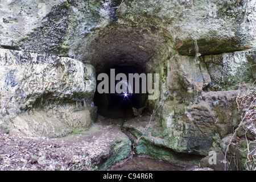
[[[231,89],[256,77],[255,3],[2,0],[2,125],[51,136],[89,127],[95,75],[123,64],[160,75],[147,106],[159,106],[162,146],[206,155],[238,122]]]

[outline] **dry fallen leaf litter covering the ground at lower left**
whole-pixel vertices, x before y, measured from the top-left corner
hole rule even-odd
[[[63,140],[1,133],[0,148],[1,171],[91,169],[88,151]]]

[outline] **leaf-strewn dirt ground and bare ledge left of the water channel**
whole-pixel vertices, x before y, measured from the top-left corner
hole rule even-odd
[[[1,133],[0,171],[93,170],[123,133],[116,125],[93,125],[83,134],[38,138]],[[125,135],[125,134],[123,134]],[[126,137],[126,136],[125,136]],[[120,137],[119,137],[120,138]]]

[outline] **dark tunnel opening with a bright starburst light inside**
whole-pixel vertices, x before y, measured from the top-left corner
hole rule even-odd
[[[142,65],[136,63],[108,65],[101,71],[97,72],[96,78],[100,73],[106,73],[106,75],[109,77],[109,92],[98,92],[98,84],[102,82],[102,80],[98,80],[96,93],[94,95],[94,104],[98,107],[98,114],[105,118],[128,118],[134,116],[133,107],[138,109],[146,105],[148,94],[142,93],[144,80],[142,80],[142,78],[139,79],[139,93],[135,92],[135,88],[138,86],[135,85],[135,81],[132,83],[133,85],[129,85],[131,83],[128,80],[129,74],[131,75],[138,73],[138,75],[141,75],[141,73],[145,73],[145,69],[142,67]],[[119,73],[123,73],[127,77],[127,80],[122,80],[122,78],[120,80],[115,80]],[[113,86],[110,83],[110,79],[112,79],[112,81],[114,79],[115,88],[118,83],[120,84],[120,82],[127,82],[127,90],[129,90],[127,94],[117,93],[117,90],[115,90],[115,93],[110,92],[111,86]]]

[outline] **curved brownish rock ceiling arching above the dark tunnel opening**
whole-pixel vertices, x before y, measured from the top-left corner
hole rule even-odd
[[[107,26],[89,46],[91,63],[97,72],[114,65],[140,66],[150,71],[167,44],[167,31],[148,26]]]

